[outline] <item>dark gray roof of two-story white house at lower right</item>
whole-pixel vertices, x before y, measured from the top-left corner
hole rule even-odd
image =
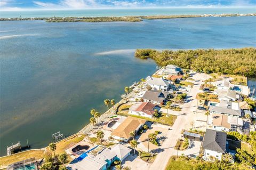
[[[227,133],[214,131],[212,129],[206,129],[202,147],[203,149],[209,149],[212,151],[225,153],[226,141]]]

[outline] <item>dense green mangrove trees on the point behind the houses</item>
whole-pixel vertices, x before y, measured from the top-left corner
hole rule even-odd
[[[141,59],[151,58],[161,66],[175,64],[183,69],[256,77],[256,48],[164,50],[137,49]]]

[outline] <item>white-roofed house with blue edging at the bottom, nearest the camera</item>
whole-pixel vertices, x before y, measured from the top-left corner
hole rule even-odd
[[[131,149],[121,144],[115,145],[112,149],[98,145],[71,161],[67,168],[70,170],[106,170],[115,160],[124,160],[130,152]]]

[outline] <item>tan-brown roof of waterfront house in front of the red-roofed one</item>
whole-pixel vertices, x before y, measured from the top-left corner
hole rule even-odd
[[[139,126],[145,123],[146,120],[144,119],[129,116],[111,133],[111,135],[130,139],[131,135],[129,133],[135,131]]]

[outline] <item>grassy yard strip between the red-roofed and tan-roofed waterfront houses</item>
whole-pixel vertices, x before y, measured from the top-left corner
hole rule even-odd
[[[141,119],[148,120],[149,122],[156,122],[156,123],[161,123],[165,125],[170,125],[172,126],[177,118],[175,115],[169,114],[170,117],[166,117],[165,113],[159,114],[159,117],[157,118],[148,118],[148,117],[142,117],[142,116],[136,116],[136,115],[129,115],[126,114],[125,112],[118,112],[118,115],[123,115],[123,116],[132,116],[132,117],[137,117]]]

